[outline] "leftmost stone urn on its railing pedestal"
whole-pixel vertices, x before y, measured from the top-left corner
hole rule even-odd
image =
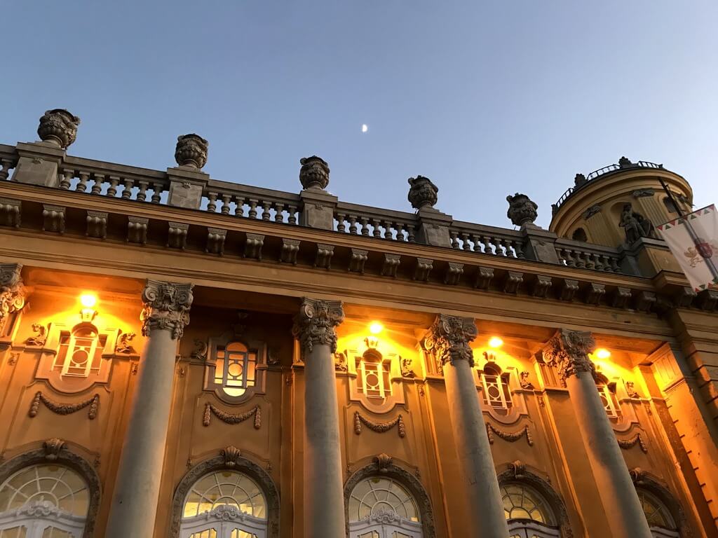
[[[80,118],[62,108],[47,110],[39,120],[39,142],[19,142],[19,159],[11,181],[60,187],[58,166],[65,159],[65,151],[75,141]]]

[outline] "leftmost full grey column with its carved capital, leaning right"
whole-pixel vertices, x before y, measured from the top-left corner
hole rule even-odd
[[[147,280],[140,319],[147,337],[122,445],[107,538],[154,536],[177,341],[190,322],[192,285]]]

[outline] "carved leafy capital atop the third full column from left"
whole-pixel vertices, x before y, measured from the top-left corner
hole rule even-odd
[[[472,318],[439,314],[424,336],[424,349],[432,353],[442,366],[447,362],[454,364],[460,359],[473,366],[474,354],[469,342],[476,338],[477,333]]]

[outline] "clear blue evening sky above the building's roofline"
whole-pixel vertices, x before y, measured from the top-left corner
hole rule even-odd
[[[410,210],[407,178],[457,220],[510,227],[630,159],[718,202],[714,0],[6,1],[0,142],[82,118],[70,154],[165,169],[179,134],[214,178],[297,192],[299,158],[346,202]],[[368,132],[361,132],[362,123]]]

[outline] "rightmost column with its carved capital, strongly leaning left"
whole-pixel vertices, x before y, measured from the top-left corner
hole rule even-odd
[[[579,432],[614,538],[651,538],[628,467],[596,388],[595,348],[589,332],[559,329],[544,357],[559,368],[576,412]]]

